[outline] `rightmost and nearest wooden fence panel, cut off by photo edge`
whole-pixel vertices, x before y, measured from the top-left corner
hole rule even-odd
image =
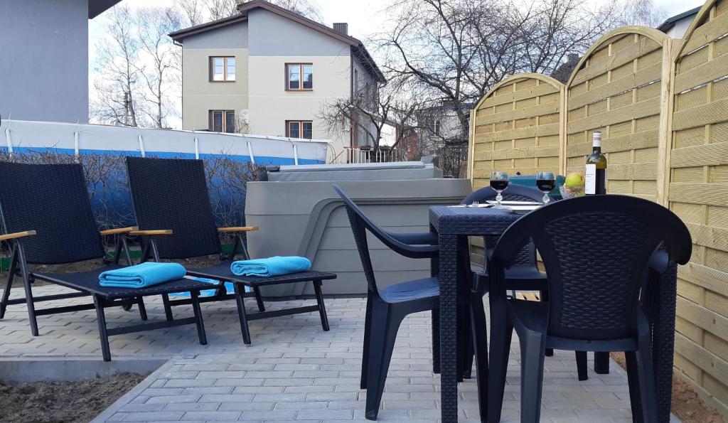
[[[668,200],[693,237],[678,271],[676,368],[728,415],[728,0],[709,0],[675,55]]]

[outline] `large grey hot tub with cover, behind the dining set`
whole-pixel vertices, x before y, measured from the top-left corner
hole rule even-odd
[[[268,181],[249,182],[246,223],[259,230],[248,234],[253,258],[304,256],[314,270],[334,272],[327,294],[366,293],[366,280],[344,203],[334,183],[384,229],[394,232],[429,230],[430,205],[457,204],[472,191],[470,180],[442,178],[422,162],[366,165],[281,166]],[[430,261],[397,255],[379,240],[369,248],[378,285],[430,276]],[[266,287],[264,296],[290,297],[312,293],[305,284]]]

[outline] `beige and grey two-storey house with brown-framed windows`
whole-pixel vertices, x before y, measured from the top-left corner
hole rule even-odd
[[[359,145],[357,128],[335,135],[317,119],[325,104],[384,81],[348,25],[329,28],[263,0],[238,9],[170,34],[183,47],[183,129],[326,138],[337,153]]]

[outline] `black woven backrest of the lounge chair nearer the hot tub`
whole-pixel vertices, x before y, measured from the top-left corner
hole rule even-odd
[[[139,229],[172,229],[155,237],[160,258],[220,253],[220,240],[202,160],[127,157]]]

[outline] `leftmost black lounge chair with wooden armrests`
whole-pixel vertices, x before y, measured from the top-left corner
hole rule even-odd
[[[209,285],[197,280],[180,279],[150,286],[149,288],[106,288],[99,285],[99,274],[119,265],[122,251],[127,262],[131,258],[126,248],[127,234],[143,234],[136,228],[110,229],[99,232],[93,218],[87,183],[81,165],[26,165],[0,162],[0,215],[4,235],[0,241],[10,244],[11,261],[8,280],[0,301],[0,318],[7,306],[25,303],[31,333],[38,336],[36,317],[58,313],[95,309],[101,339],[103,360],[111,360],[108,336],[122,333],[169,328],[178,325],[197,325],[200,344],[206,344],[205,328],[197,296]],[[101,237],[117,234],[114,260],[106,261],[106,250]],[[106,266],[87,272],[42,273],[31,272],[28,264],[67,264],[104,258]],[[16,276],[23,278],[25,298],[9,299],[10,288]],[[33,280],[44,280],[78,292],[50,296],[33,296]],[[107,328],[104,310],[109,307],[130,307],[138,304],[142,320],[146,320],[143,297],[167,293],[191,292],[194,317],[174,321],[142,323],[121,328]],[[93,304],[36,309],[36,303],[92,296]]]

